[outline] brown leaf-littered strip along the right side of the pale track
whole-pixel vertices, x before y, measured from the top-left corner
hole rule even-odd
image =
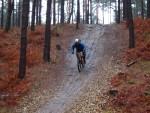
[[[104,33],[96,46],[95,71],[92,79],[81,90],[82,94],[64,113],[115,113],[106,107],[110,79],[126,67],[121,63],[121,53],[127,48],[127,30],[118,25],[104,26]]]

